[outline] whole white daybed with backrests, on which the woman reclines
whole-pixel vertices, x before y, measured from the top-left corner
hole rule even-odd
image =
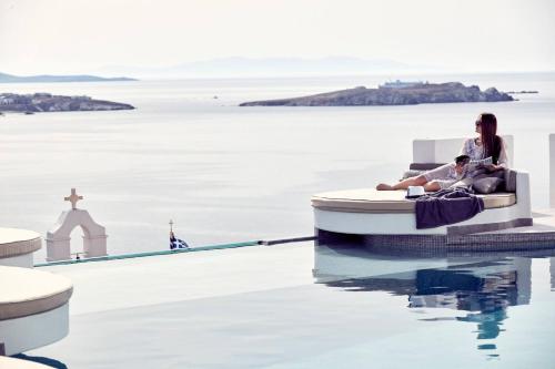
[[[512,157],[513,137],[503,136]],[[448,163],[464,139],[415,140],[411,170],[426,170]],[[511,163],[509,163],[511,164]],[[347,189],[312,197],[316,233],[369,235],[371,243],[403,245],[470,242],[466,235],[532,225],[528,173],[505,171],[506,191],[480,195],[485,211],[471,219],[436,228],[417,229],[415,202],[405,191]]]

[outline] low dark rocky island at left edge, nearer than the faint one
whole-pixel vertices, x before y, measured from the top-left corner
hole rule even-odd
[[[75,112],[102,110],[131,110],[134,106],[104,100],[93,100],[89,96],[61,96],[50,93],[20,95],[0,93],[0,112]]]

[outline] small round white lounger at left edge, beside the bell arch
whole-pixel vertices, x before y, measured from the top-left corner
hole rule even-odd
[[[33,253],[41,247],[41,236],[37,232],[0,228],[0,265],[31,268]]]

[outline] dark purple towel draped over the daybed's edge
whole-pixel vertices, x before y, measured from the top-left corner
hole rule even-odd
[[[484,201],[463,187],[442,189],[416,199],[416,228],[434,228],[472,218]]]

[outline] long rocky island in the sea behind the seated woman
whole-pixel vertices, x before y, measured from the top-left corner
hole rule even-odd
[[[367,106],[496,101],[514,101],[514,99],[494,88],[481,91],[477,85],[465,86],[460,82],[396,81],[384,83],[377,89],[360,86],[310,96],[252,101],[240,106]]]

